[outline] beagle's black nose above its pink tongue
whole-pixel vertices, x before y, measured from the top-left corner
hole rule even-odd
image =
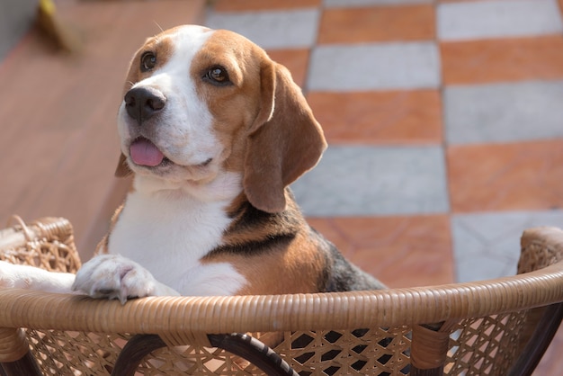
[[[125,94],[123,100],[127,113],[139,125],[165,108],[166,104],[165,95],[153,87],[135,87]]]

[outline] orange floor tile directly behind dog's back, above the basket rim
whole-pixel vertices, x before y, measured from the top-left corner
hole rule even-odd
[[[390,287],[454,282],[446,215],[308,220],[353,263]]]

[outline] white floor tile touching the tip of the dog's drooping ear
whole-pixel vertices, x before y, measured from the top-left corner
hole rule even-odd
[[[292,189],[308,216],[449,210],[440,147],[330,147]]]

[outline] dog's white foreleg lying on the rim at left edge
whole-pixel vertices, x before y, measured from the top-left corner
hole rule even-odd
[[[0,261],[0,288],[71,293],[75,274],[49,272],[30,265]]]

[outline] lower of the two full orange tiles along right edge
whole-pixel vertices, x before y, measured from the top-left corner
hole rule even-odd
[[[451,210],[550,210],[563,207],[563,140],[447,150]]]

